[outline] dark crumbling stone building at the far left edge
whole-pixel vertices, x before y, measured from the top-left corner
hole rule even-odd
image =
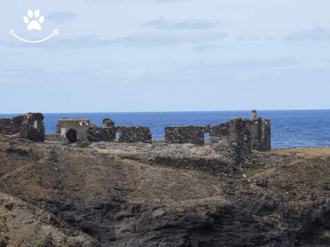
[[[17,138],[33,142],[45,140],[44,116],[41,113],[27,113],[12,118],[0,119],[0,132],[16,134]]]

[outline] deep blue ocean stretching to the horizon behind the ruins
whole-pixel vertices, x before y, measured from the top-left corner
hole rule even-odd
[[[11,118],[19,114],[0,114]],[[46,133],[54,133],[61,118],[86,118],[102,126],[102,118],[110,118],[116,126],[148,126],[153,139],[164,138],[164,127],[217,125],[231,118],[251,119],[251,110],[229,111],[168,111],[148,113],[45,113]],[[330,146],[330,109],[324,110],[257,110],[257,117],[271,120],[271,146]]]

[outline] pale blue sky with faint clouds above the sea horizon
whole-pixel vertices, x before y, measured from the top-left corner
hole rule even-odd
[[[327,0],[0,9],[2,114],[330,108]]]

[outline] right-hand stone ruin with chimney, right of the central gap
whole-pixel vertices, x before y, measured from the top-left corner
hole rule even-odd
[[[228,152],[239,163],[252,150],[271,150],[271,121],[256,115],[257,111],[252,110],[252,120],[232,118],[215,126],[167,126],[165,142],[203,146],[204,134],[209,133],[210,148]]]

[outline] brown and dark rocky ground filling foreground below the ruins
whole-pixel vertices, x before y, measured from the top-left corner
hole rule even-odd
[[[50,144],[0,135],[1,247],[330,246],[330,148]]]

